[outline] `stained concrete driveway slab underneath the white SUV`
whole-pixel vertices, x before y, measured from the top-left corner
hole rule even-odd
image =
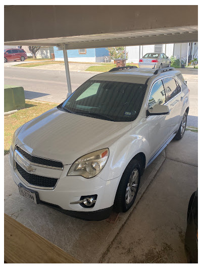
[[[197,133],[191,131],[145,170],[134,206],[100,222],[20,196],[5,156],[5,213],[85,263],[186,262],[186,210],[196,188]]]

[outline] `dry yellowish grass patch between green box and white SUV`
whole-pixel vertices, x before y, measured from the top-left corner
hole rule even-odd
[[[9,153],[13,134],[18,127],[38,117],[44,112],[53,109],[56,105],[58,104],[26,101],[24,109],[21,109],[14,114],[4,116],[4,154]]]

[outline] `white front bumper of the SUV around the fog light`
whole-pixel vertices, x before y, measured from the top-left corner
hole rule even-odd
[[[58,180],[58,183],[54,189],[41,189],[35,186],[26,184],[22,176],[14,170],[13,166],[13,151],[10,150],[10,167],[12,177],[17,185],[21,183],[26,188],[30,190],[37,191],[39,194],[39,199],[41,203],[46,203],[57,207],[56,209],[63,211],[70,216],[85,219],[85,216],[89,220],[90,214],[96,216],[101,213],[101,217],[104,216],[104,211],[106,216],[109,215],[112,206],[114,204],[114,198],[116,195],[116,190],[120,181],[119,178],[115,178],[109,181],[105,181],[98,176],[91,179],[85,179],[81,176],[68,176],[67,172],[71,165],[64,166],[64,170]],[[96,202],[93,207],[82,207],[80,204],[70,204],[70,202],[75,202],[80,200],[81,196],[97,195]],[[104,210],[105,209],[105,210]],[[100,211],[102,210],[102,211]],[[102,215],[103,214],[103,215]],[[99,217],[96,217],[97,220]],[[96,219],[95,218],[95,219]],[[93,219],[91,217],[91,219]]]

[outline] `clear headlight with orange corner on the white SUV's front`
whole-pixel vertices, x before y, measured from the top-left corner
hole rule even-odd
[[[108,148],[88,153],[78,158],[76,162],[73,163],[67,176],[82,176],[84,178],[92,178],[104,168],[108,157]]]

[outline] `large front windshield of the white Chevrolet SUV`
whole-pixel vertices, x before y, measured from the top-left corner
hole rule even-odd
[[[58,108],[97,119],[130,122],[139,114],[145,90],[145,84],[87,80]]]

